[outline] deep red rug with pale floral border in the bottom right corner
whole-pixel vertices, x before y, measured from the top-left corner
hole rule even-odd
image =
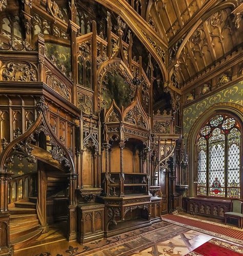
[[[238,256],[243,255],[243,247],[212,238],[185,256]]]

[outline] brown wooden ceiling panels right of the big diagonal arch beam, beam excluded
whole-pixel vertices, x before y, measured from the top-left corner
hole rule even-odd
[[[242,0],[149,1],[146,21],[168,42],[179,88],[242,46],[242,12]]]

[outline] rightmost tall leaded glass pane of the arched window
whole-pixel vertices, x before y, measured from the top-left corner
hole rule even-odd
[[[233,128],[228,135],[227,194],[240,198],[240,132]]]

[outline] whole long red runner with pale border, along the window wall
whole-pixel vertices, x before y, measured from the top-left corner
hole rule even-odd
[[[191,229],[195,229],[197,231],[200,232],[204,232],[207,234],[211,234],[214,237],[220,237],[220,238],[224,238],[227,239],[228,238],[232,238],[233,242],[236,243],[240,243],[242,244],[243,241],[243,231],[241,230],[236,230],[230,227],[224,227],[220,224],[211,224],[211,223],[206,223],[203,221],[197,221],[197,220],[192,220],[189,218],[184,218],[181,215],[173,215],[173,214],[167,214],[167,215],[163,215],[162,219],[164,221],[168,221],[170,223],[173,224],[177,224],[179,226],[184,226],[184,227],[188,227]],[[208,231],[208,232],[205,232]],[[219,235],[215,235],[215,233],[219,234]],[[229,239],[227,239],[229,240]]]

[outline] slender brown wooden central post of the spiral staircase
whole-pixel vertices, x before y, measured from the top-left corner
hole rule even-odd
[[[47,224],[47,176],[45,173],[44,165],[42,162],[38,162],[38,194],[36,211],[40,225],[42,225],[43,233],[49,231]]]

